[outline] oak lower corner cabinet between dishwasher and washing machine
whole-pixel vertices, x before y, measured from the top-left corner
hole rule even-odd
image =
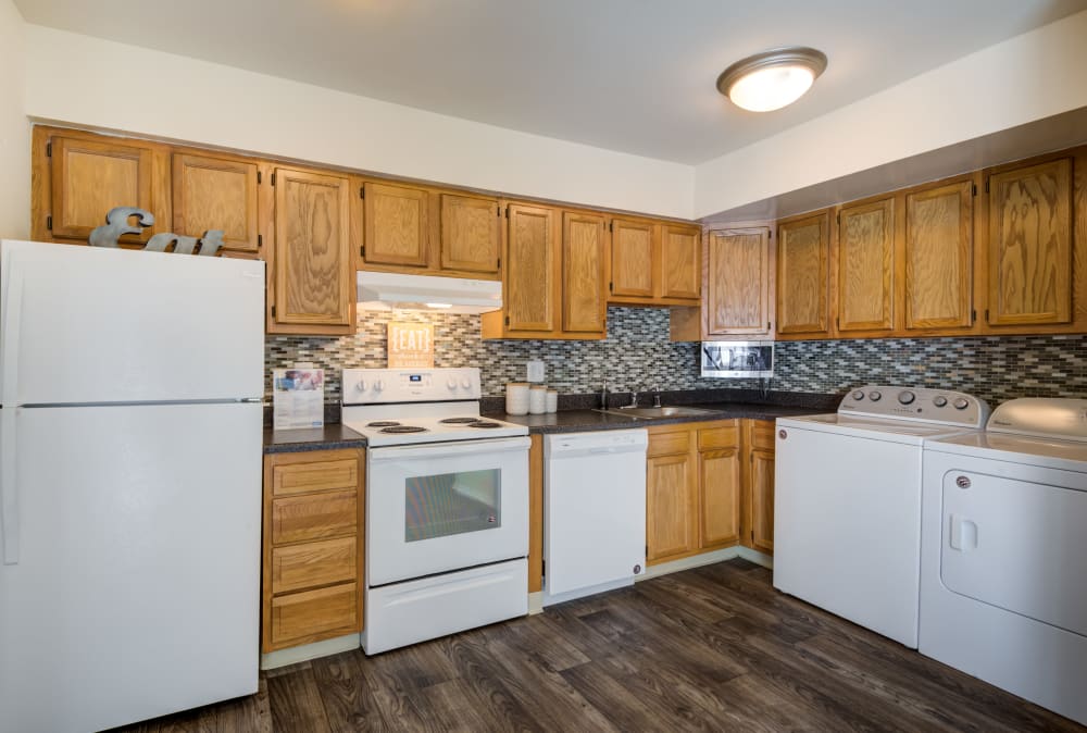
[[[649,427],[646,561],[742,544],[774,549],[774,423],[723,420]]]

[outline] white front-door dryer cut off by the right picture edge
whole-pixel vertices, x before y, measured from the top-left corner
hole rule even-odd
[[[1087,400],[925,445],[922,654],[1087,723]]]

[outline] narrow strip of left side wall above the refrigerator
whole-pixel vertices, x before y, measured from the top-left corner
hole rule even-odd
[[[0,238],[30,236],[30,126],[24,112],[25,25],[0,0]]]

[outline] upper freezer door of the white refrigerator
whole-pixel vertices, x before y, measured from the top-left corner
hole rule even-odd
[[[264,263],[0,243],[0,403],[263,394]]]

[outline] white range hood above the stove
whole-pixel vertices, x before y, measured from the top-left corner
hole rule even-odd
[[[360,270],[359,308],[487,313],[502,308],[502,283]]]

